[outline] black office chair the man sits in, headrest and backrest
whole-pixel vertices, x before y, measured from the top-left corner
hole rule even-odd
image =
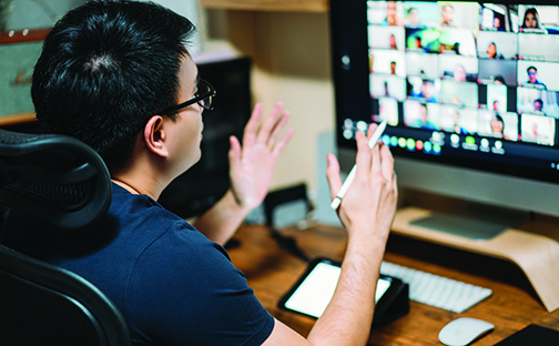
[[[110,202],[109,172],[88,145],[63,135],[0,130],[0,204],[80,232],[102,217]],[[0,245],[0,345],[131,340],[118,308],[91,283]]]

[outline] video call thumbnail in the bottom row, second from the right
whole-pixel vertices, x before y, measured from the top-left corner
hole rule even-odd
[[[518,141],[518,114],[478,111],[478,134],[508,141]]]

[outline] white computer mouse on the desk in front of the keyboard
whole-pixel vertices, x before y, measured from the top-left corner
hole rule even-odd
[[[495,326],[488,322],[460,317],[440,329],[439,340],[448,346],[466,346],[494,328]]]

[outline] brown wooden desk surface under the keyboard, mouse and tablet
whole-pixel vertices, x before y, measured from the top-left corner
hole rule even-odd
[[[343,258],[346,235],[337,227],[314,226],[305,231],[284,230],[311,258]],[[267,228],[244,225],[230,247],[233,263],[244,272],[248,285],[277,319],[306,336],[314,319],[277,308],[280,297],[296,282],[306,263],[281,248]],[[411,268],[491,288],[494,294],[461,314],[410,302],[405,317],[372,330],[369,345],[443,345],[439,330],[458,317],[475,317],[495,325],[495,330],[474,343],[495,345],[529,324],[559,330],[559,311],[549,314],[525,274],[514,264],[399,235],[390,235],[385,260]],[[559,288],[558,288],[559,289]]]

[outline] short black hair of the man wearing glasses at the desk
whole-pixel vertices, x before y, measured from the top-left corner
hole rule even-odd
[[[92,146],[112,172],[125,167],[148,120],[176,104],[195,30],[152,2],[94,0],[68,12],[34,68],[39,122]]]

